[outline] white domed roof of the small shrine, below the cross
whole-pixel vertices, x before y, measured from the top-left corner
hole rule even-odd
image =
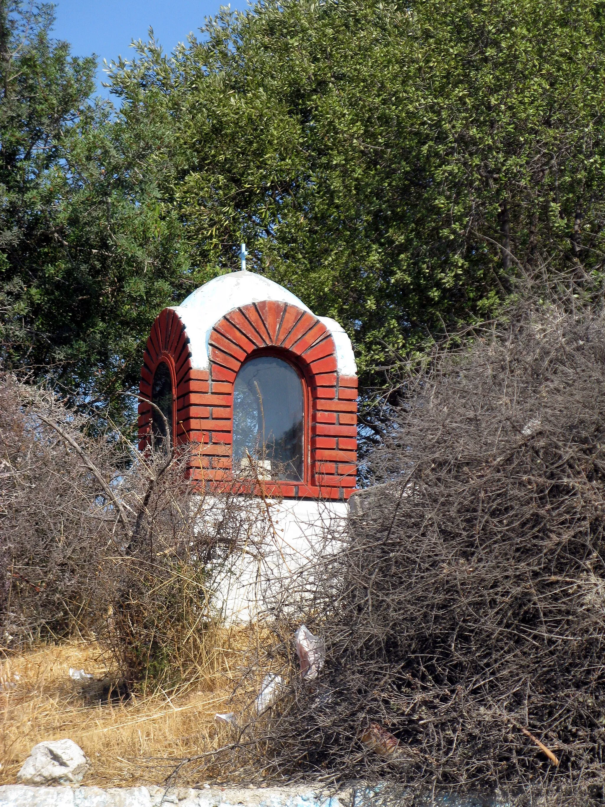
[[[192,292],[180,306],[173,309],[185,324],[190,340],[191,363],[195,370],[210,368],[208,340],[215,324],[234,308],[248,303],[261,303],[263,300],[288,303],[302,308],[303,311],[313,313],[298,297],[283,286],[279,286],[261,274],[246,270],[222,274],[218,278],[204,283],[203,286]],[[343,375],[356,375],[357,365],[353,347],[344,328],[328,316],[319,316],[317,319],[328,328],[334,339],[338,372]]]

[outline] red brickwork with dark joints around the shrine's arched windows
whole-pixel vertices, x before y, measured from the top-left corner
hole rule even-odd
[[[186,328],[172,309],[153,324],[145,349],[140,393],[151,398],[156,366],[173,367],[177,442],[198,445],[191,472],[211,487],[232,479],[233,384],[244,361],[270,349],[298,366],[307,387],[305,483],[276,483],[277,493],[346,499],[355,487],[357,376],[338,373],[328,328],[309,312],[270,300],[234,308],[212,328],[210,370],[194,370]],[[151,408],[139,407],[141,447],[151,429]],[[269,491],[272,492],[272,491]]]

